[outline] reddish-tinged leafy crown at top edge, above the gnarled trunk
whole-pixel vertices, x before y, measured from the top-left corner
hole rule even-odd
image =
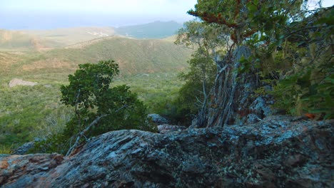
[[[207,23],[218,23],[231,28],[231,39],[237,45],[258,32],[260,28],[272,28],[286,14],[293,14],[295,7],[300,7],[301,0],[265,0],[265,1],[198,1],[195,10],[188,14]]]

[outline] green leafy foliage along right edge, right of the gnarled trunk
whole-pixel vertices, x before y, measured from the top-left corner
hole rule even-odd
[[[283,41],[270,43],[265,53],[260,50],[257,55],[272,52],[271,64],[284,65],[274,69],[280,73],[278,84],[271,92],[276,98],[275,107],[292,115],[313,113],[333,118],[334,10],[320,9],[308,14],[300,21],[287,24],[283,31],[276,31]],[[273,46],[280,50],[273,52]]]

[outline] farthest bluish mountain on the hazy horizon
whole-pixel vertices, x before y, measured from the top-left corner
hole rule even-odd
[[[133,38],[166,38],[176,34],[181,23],[176,21],[155,21],[137,26],[123,26],[115,28],[118,35],[130,36]]]

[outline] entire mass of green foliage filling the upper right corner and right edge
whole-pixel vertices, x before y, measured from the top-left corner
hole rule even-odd
[[[198,1],[189,14],[231,29],[237,45],[253,49],[261,83],[273,84],[276,107],[293,115],[333,117],[333,7],[308,11],[307,1]],[[277,85],[275,85],[277,83]]]

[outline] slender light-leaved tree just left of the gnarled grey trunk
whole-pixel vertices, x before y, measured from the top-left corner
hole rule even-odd
[[[219,64],[214,63],[223,56],[228,48],[226,27],[216,23],[188,21],[178,30],[176,44],[188,48],[196,48],[192,58],[188,61],[190,70],[181,73],[180,77],[186,81],[176,100],[178,113],[186,119],[197,115],[197,122],[203,125],[207,120],[208,96],[213,85]]]

